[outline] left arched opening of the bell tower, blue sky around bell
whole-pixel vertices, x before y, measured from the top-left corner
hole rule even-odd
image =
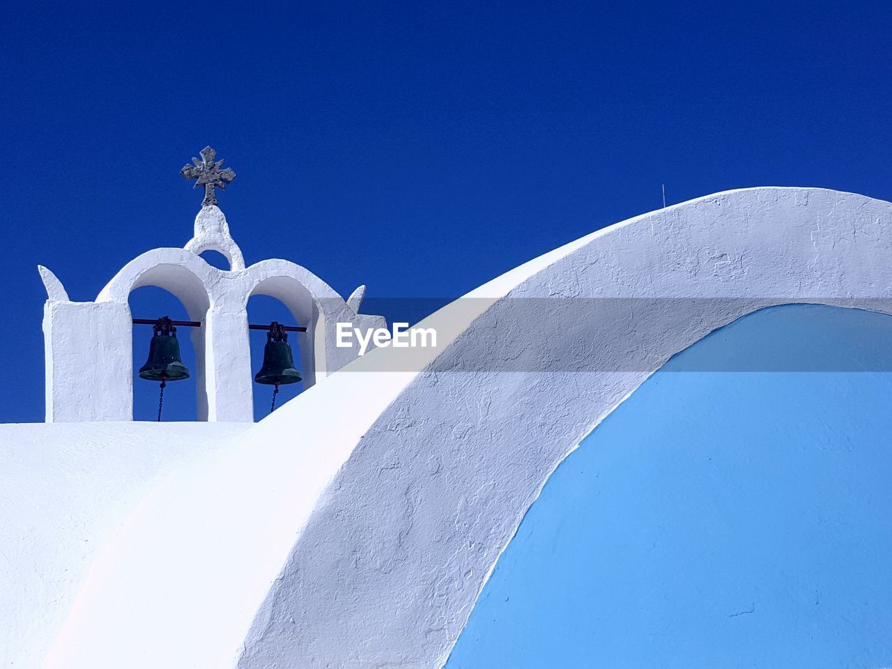
[[[155,319],[169,316],[173,320],[193,319],[176,295],[154,285],[136,288],[130,293],[128,302],[133,318]],[[152,334],[153,329],[150,325],[133,326],[134,420],[153,421],[158,419],[160,384],[139,377],[139,368],[145,364],[149,354]],[[195,344],[196,337],[199,338],[198,346]],[[203,367],[203,362],[200,366],[196,348],[203,352],[201,328],[180,326],[177,328],[177,338],[183,363],[189,369],[189,378],[167,384],[164,389],[162,420],[197,420],[198,407],[195,398],[198,395],[198,370]],[[201,382],[203,384],[203,378]]]

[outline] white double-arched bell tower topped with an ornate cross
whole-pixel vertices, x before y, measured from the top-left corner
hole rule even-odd
[[[201,155],[201,161],[193,159],[193,165],[181,170],[205,192],[194,220],[194,235],[184,248],[159,248],[136,257],[95,301],[71,301],[53,272],[39,268],[48,297],[44,309],[47,422],[133,419],[134,314],[128,297],[145,285],[175,295],[189,318],[200,323],[189,328],[195,351],[198,420],[253,420],[247,317],[247,301],[253,294],[283,302],[308,328],[300,338],[305,388],[358,354],[335,346],[337,322],[360,330],[386,325],[382,317],[358,313],[360,289],[344,301],[322,279],[288,260],[262,260],[246,268],[215,194],[216,188],[224,188],[235,178],[235,172],[221,168],[222,161],[215,160],[211,147]],[[222,253],[229,268],[215,268],[202,259],[199,254],[208,250]]]

